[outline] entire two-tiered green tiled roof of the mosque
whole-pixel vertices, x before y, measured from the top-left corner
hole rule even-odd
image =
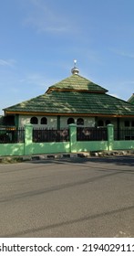
[[[49,89],[34,99],[6,108],[5,112],[134,116],[134,105],[108,95],[105,89],[79,75],[62,80]]]

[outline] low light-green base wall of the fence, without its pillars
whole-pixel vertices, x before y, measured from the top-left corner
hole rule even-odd
[[[112,150],[134,149],[134,141],[114,141]],[[0,144],[0,156],[58,154],[71,152],[107,151],[108,141],[104,142],[76,142],[70,150],[69,142],[65,143],[32,143],[28,144]]]

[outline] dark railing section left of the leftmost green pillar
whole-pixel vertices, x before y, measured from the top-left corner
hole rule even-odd
[[[25,129],[15,127],[0,127],[0,144],[18,144],[25,141]]]

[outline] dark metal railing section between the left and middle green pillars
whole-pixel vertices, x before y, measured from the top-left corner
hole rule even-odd
[[[55,129],[33,129],[33,142],[46,143],[46,142],[68,142],[69,130],[55,130]]]

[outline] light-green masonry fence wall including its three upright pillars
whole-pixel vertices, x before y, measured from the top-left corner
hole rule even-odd
[[[109,151],[134,149],[134,141],[114,141],[114,126],[107,126],[107,140],[77,141],[77,125],[69,125],[69,140],[67,142],[34,143],[33,125],[26,124],[24,143],[0,144],[0,155],[38,155],[77,153],[88,151]]]

